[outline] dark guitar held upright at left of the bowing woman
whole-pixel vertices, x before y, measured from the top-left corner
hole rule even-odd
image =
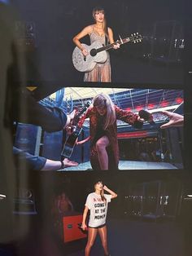
[[[87,108],[89,108],[90,102],[86,102],[85,105],[76,113],[76,116],[74,117],[72,121],[72,135],[68,136],[68,139],[63,145],[63,150],[61,152],[61,157],[71,157],[73,149],[75,148],[76,145],[76,139],[79,137],[81,134],[82,130],[82,123],[80,125],[79,121],[81,117],[85,114]]]

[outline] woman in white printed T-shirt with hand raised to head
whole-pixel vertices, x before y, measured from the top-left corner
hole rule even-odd
[[[109,194],[104,194],[104,190]],[[116,196],[117,194],[104,186],[102,181],[97,181],[94,183],[94,192],[87,196],[81,226],[83,230],[87,228],[86,218],[88,211],[90,211],[88,224],[88,241],[85,247],[85,256],[89,256],[90,249],[94,245],[97,234],[99,234],[101,238],[105,255],[110,255],[107,249],[107,205],[109,202],[111,202],[111,199],[116,198]]]

